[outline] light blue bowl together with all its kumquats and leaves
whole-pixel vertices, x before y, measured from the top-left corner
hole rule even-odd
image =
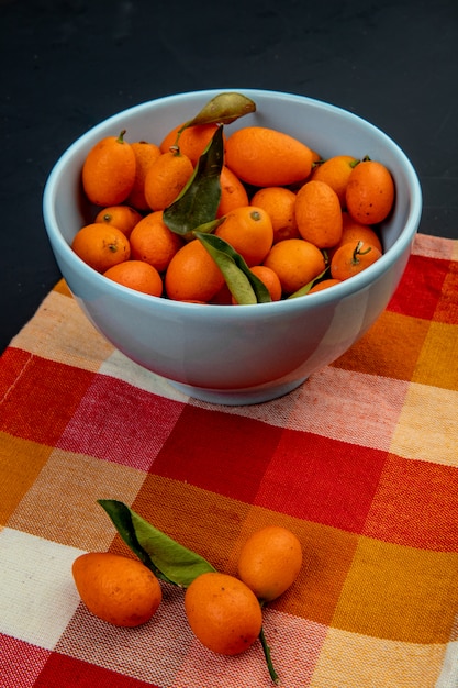
[[[57,263],[92,324],[191,397],[280,397],[377,320],[422,209],[383,132],[254,89],[120,112],[64,153],[44,193]]]

